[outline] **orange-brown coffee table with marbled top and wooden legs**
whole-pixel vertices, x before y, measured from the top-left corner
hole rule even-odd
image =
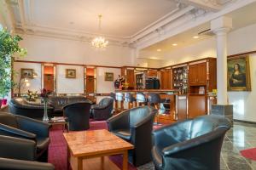
[[[134,146],[109,133],[108,130],[92,130],[63,133],[67,141],[68,157],[77,158],[78,169],[83,169],[83,160],[94,157],[123,155],[123,169],[128,168],[128,150]]]

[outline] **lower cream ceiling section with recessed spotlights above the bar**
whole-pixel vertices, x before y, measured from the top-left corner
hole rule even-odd
[[[230,14],[226,14],[231,17],[233,20],[233,29],[231,31],[235,31],[241,27],[249,26],[256,23],[256,3],[252,3],[243,8],[239,8]],[[142,53],[143,58],[152,58],[152,59],[161,59],[165,52],[171,52],[172,50],[176,50],[178,48],[184,48],[196,42],[201,42],[207,38],[211,38],[209,35],[201,35],[199,38],[195,39],[194,36],[197,36],[199,32],[205,31],[210,28],[210,22],[207,22],[201,26],[196,26],[189,31],[184,31],[181,34],[177,34],[176,36],[169,37],[164,41],[155,43],[147,48],[143,48]],[[177,46],[172,46],[173,43],[176,43]],[[157,49],[161,51],[158,52]],[[148,56],[147,56],[148,54]]]

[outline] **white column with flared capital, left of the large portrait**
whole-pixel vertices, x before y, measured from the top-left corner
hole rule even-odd
[[[227,93],[227,33],[232,27],[232,20],[220,17],[211,22],[211,30],[216,34],[217,51],[217,104],[228,105]]]

